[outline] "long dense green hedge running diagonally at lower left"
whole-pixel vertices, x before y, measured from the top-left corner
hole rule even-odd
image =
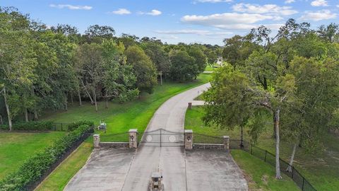
[[[30,186],[40,181],[54,163],[66,154],[69,149],[87,132],[93,132],[93,122],[78,122],[79,125],[73,131],[55,140],[44,151],[28,158],[20,168],[0,181],[0,190],[28,190]]]

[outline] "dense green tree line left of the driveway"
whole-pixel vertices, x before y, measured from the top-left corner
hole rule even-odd
[[[126,102],[153,93],[159,79],[191,81],[218,58],[218,45],[167,45],[155,37],[115,35],[106,25],[85,33],[59,24],[47,27],[13,7],[0,7],[0,119],[45,109],[67,110],[73,99]],[[4,103],[4,104],[3,104]],[[2,114],[2,115],[1,115]]]

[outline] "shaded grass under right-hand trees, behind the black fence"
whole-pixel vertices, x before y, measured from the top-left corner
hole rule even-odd
[[[203,116],[203,108],[194,107],[187,110],[185,119],[185,129],[193,129],[194,132],[208,134],[212,136],[230,135],[230,139],[239,139],[239,129],[227,131],[215,127],[206,127],[203,125],[201,117]],[[273,129],[271,125],[267,125],[266,132],[262,134],[258,140],[258,147],[266,149],[271,153],[275,153],[275,139],[272,139]],[[245,132],[245,139],[248,134]],[[196,139],[201,139],[195,136]],[[304,149],[297,148],[295,154],[294,166],[302,173],[316,190],[338,190],[339,187],[339,137],[333,134],[324,134],[323,141],[325,150],[319,151],[317,154],[306,154]],[[287,141],[280,141],[280,158],[288,161],[292,152],[292,144]]]

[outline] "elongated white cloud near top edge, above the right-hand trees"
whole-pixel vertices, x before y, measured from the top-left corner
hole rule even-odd
[[[275,4],[266,4],[266,5],[258,5],[258,4],[235,4],[232,6],[233,11],[242,12],[242,13],[258,13],[258,14],[274,14],[274,15],[282,15],[282,16],[290,16],[298,11],[293,10],[290,6],[278,6]]]

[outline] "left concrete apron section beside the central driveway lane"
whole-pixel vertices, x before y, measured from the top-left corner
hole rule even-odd
[[[94,149],[85,166],[64,190],[121,190],[134,153],[133,149]]]

